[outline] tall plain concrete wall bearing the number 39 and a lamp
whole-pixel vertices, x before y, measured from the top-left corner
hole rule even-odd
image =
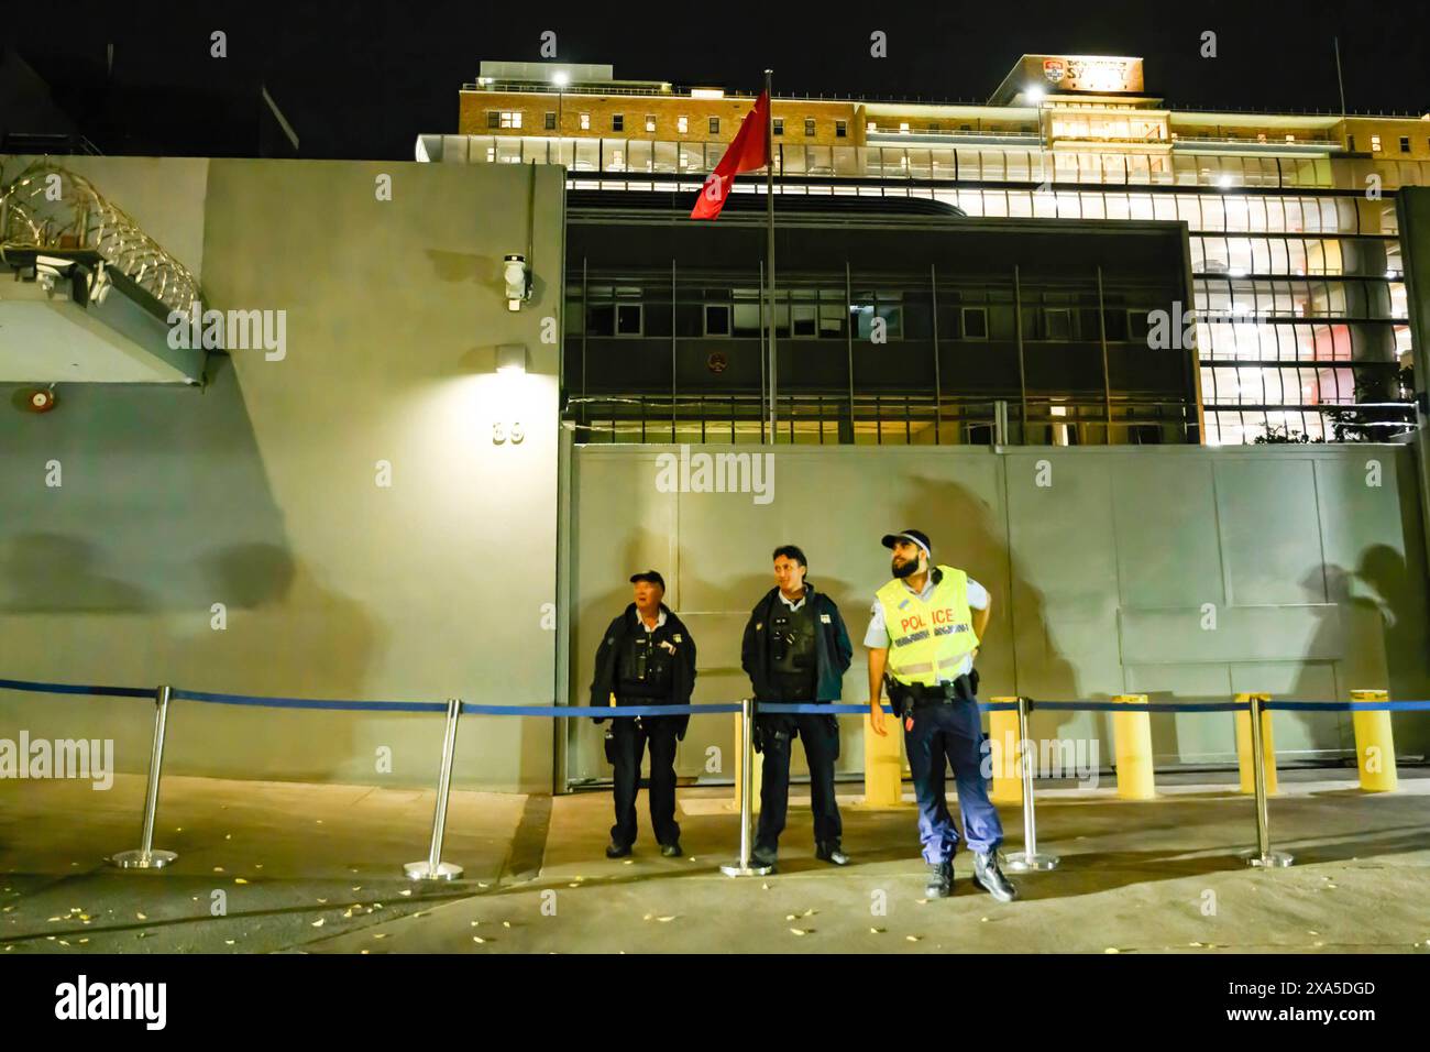
[[[286,311],[286,358],[216,356],[204,389],[63,386],[43,417],[0,389],[0,676],[549,703],[558,358],[541,319],[561,309],[561,170],[196,165],[84,162],[160,243],[203,246],[210,306]],[[533,192],[535,292],[513,313],[500,262],[526,252]],[[525,376],[495,375],[511,342]],[[525,439],[493,442],[512,421]],[[150,716],[0,691],[0,734],[113,737],[122,770],[144,767]],[[179,703],[166,770],[430,784],[440,733],[435,716]],[[548,721],[472,720],[458,783],[546,789],[551,743]]]

